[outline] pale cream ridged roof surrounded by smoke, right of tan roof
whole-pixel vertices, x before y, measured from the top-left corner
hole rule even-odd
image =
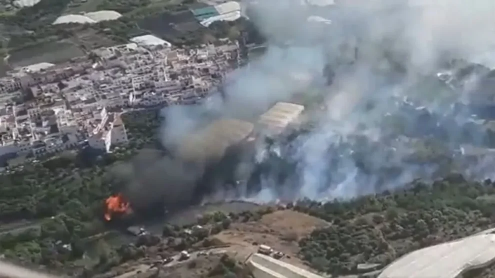
[[[304,111],[304,106],[277,102],[264,114],[259,116],[256,131],[268,136],[276,136],[282,133],[290,124],[298,121],[299,115]]]

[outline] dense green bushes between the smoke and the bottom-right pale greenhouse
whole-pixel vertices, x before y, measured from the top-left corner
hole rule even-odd
[[[299,241],[300,255],[332,274],[353,273],[362,263],[385,265],[415,249],[489,228],[492,212],[478,197],[494,194],[491,181],[481,185],[453,175],[348,202],[298,202],[294,209],[332,222]]]

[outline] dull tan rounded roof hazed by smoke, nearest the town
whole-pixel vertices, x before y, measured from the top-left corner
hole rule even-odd
[[[218,160],[226,150],[239,144],[252,133],[253,124],[234,119],[221,119],[185,139],[177,156],[184,161],[206,163]]]

